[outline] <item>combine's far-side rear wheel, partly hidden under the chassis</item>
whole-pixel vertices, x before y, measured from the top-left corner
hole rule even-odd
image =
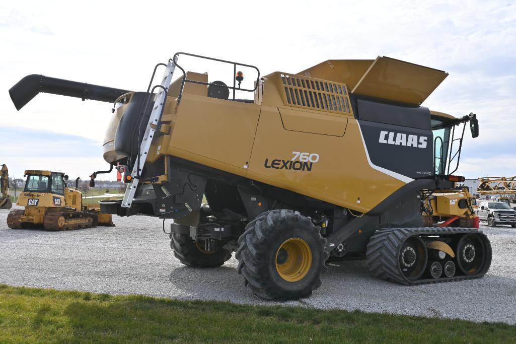
[[[176,233],[172,234],[170,240],[175,258],[193,268],[215,268],[228,261],[231,258],[231,251],[220,246],[222,242],[217,241],[212,251],[205,251],[204,244],[201,242],[194,242],[191,237]]]

